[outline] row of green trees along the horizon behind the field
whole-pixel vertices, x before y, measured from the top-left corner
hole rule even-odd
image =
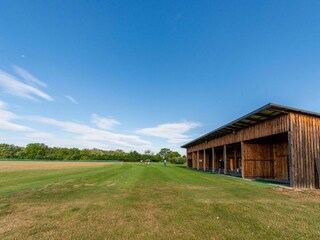
[[[126,162],[151,161],[160,162],[166,159],[171,163],[185,163],[185,156],[162,148],[158,153],[150,150],[144,153],[137,151],[124,152],[122,150],[101,150],[48,147],[43,143],[30,143],[26,147],[12,144],[0,144],[0,158],[2,159],[40,159],[40,160],[118,160]]]

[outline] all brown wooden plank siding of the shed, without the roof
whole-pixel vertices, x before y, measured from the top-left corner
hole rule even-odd
[[[250,140],[272,136],[280,133],[287,134],[287,142],[274,142],[269,146],[253,143]],[[250,142],[248,142],[250,141]],[[222,158],[220,147],[242,143],[243,177],[274,177],[287,180],[294,188],[315,188],[315,158],[320,157],[320,118],[302,113],[289,113],[267,120],[251,127],[230,133],[208,142],[202,142],[189,147],[187,153],[192,154],[193,168],[197,166],[197,151],[199,159],[203,160],[203,149],[214,147],[215,169]],[[202,154],[202,155],[201,155]],[[230,164],[232,153],[228,154],[226,167]],[[211,157],[206,156],[206,163]],[[199,163],[203,169],[203,162]],[[319,186],[318,186],[319,187]]]

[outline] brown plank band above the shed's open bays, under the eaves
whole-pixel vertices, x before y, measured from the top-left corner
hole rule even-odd
[[[278,133],[289,131],[289,115],[281,115],[277,118],[258,123],[251,127],[239,130],[238,132],[230,133],[225,136],[212,139],[210,141],[200,143],[187,149],[187,152],[203,150],[206,148],[223,146],[231,143],[247,141],[255,138],[271,136]]]

